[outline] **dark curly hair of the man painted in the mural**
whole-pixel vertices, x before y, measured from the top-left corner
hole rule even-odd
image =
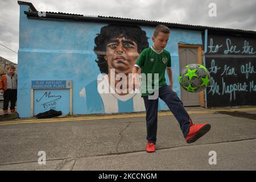
[[[141,53],[144,48],[148,47],[148,38],[146,32],[138,26],[119,26],[115,24],[109,24],[101,28],[100,34],[97,34],[94,39],[93,51],[97,55],[96,63],[100,68],[101,73],[108,74],[108,62],[104,59],[106,55],[106,45],[109,43],[110,39],[118,38],[120,35],[126,39],[133,40],[138,46],[138,53]]]

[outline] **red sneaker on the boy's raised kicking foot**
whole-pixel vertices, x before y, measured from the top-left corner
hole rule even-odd
[[[191,125],[185,140],[187,140],[187,143],[196,142],[196,140],[198,140],[200,137],[203,137],[203,135],[207,134],[209,130],[210,125],[208,123],[204,123],[203,125]]]

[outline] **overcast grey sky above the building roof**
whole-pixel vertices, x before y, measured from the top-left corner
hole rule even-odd
[[[256,31],[255,0],[30,0],[38,11],[115,16]],[[208,15],[215,3],[217,16]],[[0,56],[18,63],[19,5],[0,0]]]

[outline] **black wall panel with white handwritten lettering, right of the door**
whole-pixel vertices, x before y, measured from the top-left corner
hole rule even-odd
[[[207,106],[256,105],[256,39],[208,35]]]

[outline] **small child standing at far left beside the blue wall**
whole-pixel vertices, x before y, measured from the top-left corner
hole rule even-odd
[[[13,65],[7,67],[7,73],[0,79],[0,93],[3,94],[3,114],[8,114],[9,101],[11,101],[11,113],[15,113],[17,101],[17,76]]]

